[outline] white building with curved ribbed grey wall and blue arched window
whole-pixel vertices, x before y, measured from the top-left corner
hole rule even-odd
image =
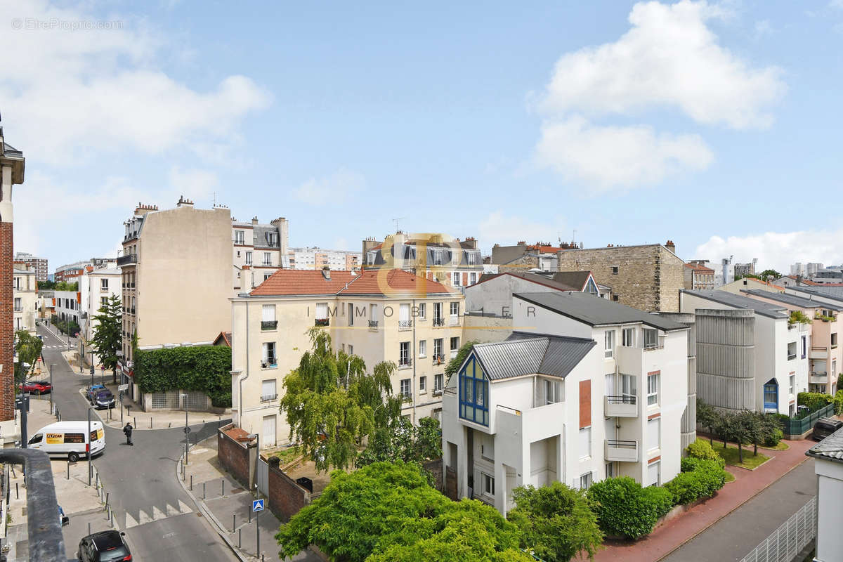
[[[721,409],[793,415],[808,390],[810,326],[789,324],[781,304],[726,291],[686,291],[696,316],[697,398]],[[718,314],[710,311],[748,311]]]

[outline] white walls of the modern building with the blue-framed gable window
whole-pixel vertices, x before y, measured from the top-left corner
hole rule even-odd
[[[559,480],[585,488],[621,475],[649,485],[679,473],[688,329],[674,324],[645,338],[644,330],[653,328],[641,321],[589,325],[518,296],[513,324],[538,337],[596,345],[565,377],[530,373],[497,380],[484,374],[487,424],[466,419],[463,369],[452,377],[443,400],[443,463],[455,471],[460,497],[473,494],[505,514],[520,485]],[[482,353],[476,350],[464,369]]]

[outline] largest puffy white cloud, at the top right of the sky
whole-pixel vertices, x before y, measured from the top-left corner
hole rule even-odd
[[[705,2],[637,3],[619,40],[556,62],[541,109],[627,115],[667,107],[706,125],[769,126],[768,108],[785,91],[781,70],[751,67],[719,45],[706,25],[718,17]]]

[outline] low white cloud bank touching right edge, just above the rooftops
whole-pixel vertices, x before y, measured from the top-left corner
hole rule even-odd
[[[762,270],[772,268],[789,273],[790,265],[797,261],[818,261],[825,265],[843,263],[843,246],[838,243],[840,238],[843,238],[843,228],[759,233],[726,239],[712,236],[697,246],[694,255],[715,262],[734,255],[736,263],[747,263],[758,258]]]

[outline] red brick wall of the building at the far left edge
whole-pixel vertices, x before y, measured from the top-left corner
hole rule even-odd
[[[14,419],[12,222],[0,222],[0,421]]]

